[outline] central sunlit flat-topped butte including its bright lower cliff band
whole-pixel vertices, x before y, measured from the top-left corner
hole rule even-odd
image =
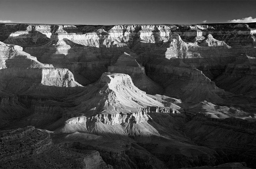
[[[95,85],[88,86],[74,97],[73,104],[77,106],[68,109],[66,116],[75,117],[66,121],[67,125],[87,122],[137,124],[148,121],[149,112],[179,113],[140,91],[127,74],[103,73]]]

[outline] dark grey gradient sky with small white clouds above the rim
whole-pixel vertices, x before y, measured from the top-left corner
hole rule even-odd
[[[0,22],[200,24],[256,22],[254,0],[0,0]]]

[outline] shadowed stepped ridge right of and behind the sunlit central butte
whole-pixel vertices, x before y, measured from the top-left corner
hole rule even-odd
[[[157,64],[154,64],[156,61],[152,63],[146,66],[148,76],[163,84],[166,96],[175,96],[186,102],[208,100],[215,103],[221,101],[220,96],[228,95],[200,70],[172,66],[172,62],[162,59]]]

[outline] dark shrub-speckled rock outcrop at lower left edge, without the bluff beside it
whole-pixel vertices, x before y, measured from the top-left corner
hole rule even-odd
[[[35,127],[4,130],[1,136],[1,167],[8,166],[8,161],[20,158],[32,158],[47,152],[52,148],[50,135]]]

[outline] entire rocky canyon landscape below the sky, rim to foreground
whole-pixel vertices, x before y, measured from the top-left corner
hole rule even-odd
[[[256,23],[0,24],[0,168],[256,168]]]

